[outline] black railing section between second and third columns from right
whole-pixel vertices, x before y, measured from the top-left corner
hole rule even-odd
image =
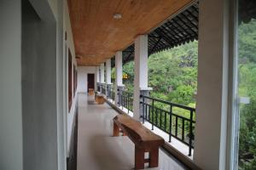
[[[118,89],[118,93],[119,93],[119,106],[121,105],[122,109],[124,109],[125,107],[128,113],[129,111],[133,111],[133,94],[125,90],[120,91],[119,89]]]

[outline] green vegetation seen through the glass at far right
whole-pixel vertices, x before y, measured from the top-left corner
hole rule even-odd
[[[256,20],[238,29],[239,96],[250,98],[240,107],[240,169],[256,169]]]

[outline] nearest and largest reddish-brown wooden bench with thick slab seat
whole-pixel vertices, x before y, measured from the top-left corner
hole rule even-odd
[[[143,169],[144,163],[149,167],[158,167],[159,147],[165,144],[165,140],[144,127],[141,122],[131,116],[118,115],[113,118],[113,136],[119,136],[122,132],[135,144],[135,169]],[[145,152],[149,153],[145,159]]]

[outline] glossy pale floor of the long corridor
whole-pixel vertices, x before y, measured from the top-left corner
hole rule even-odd
[[[128,137],[112,137],[112,119],[118,113],[108,104],[91,105],[93,97],[79,94],[78,170],[125,170],[134,167],[134,144]],[[160,150],[160,167],[186,169]]]

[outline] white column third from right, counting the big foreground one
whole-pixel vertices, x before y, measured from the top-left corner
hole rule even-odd
[[[123,90],[123,56],[118,51],[115,54],[115,85],[114,85],[114,105],[119,106],[119,93]]]

